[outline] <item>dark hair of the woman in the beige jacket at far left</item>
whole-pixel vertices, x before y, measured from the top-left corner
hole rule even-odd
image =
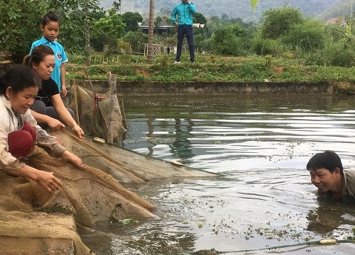
[[[28,67],[16,65],[11,67],[5,74],[0,75],[0,95],[4,95],[7,88],[11,87],[14,94],[23,89],[38,86],[40,88],[42,80]]]

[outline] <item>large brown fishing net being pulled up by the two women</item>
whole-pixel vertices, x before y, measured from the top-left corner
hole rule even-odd
[[[214,176],[94,142],[90,137],[80,140],[67,130],[51,135],[81,157],[85,166],[79,169],[35,147],[27,164],[51,171],[62,181],[62,188],[55,193],[48,193],[35,181],[0,171],[0,236],[71,239],[76,254],[92,254],[77,235],[75,223],[94,227],[102,220],[157,218],[153,204],[126,190],[121,183],[144,183],[176,176]],[[72,217],[72,225],[65,215]]]

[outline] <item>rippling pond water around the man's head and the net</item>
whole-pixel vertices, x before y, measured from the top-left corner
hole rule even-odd
[[[207,254],[202,253],[207,249],[246,254],[354,237],[355,205],[317,200],[305,169],[313,154],[326,149],[339,154],[344,168],[355,167],[354,97],[170,95],[123,100],[129,128],[121,147],[219,176],[124,185],[157,205],[160,219],[80,229],[96,254]],[[354,245],[337,250],[354,253]]]

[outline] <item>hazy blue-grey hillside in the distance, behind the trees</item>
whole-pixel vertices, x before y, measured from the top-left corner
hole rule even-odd
[[[117,0],[99,0],[105,10]],[[316,17],[342,0],[260,0],[255,10],[251,12],[250,0],[192,0],[197,12],[204,16],[219,16],[224,13],[229,18],[242,18],[245,21],[258,21],[263,11],[288,4],[300,8],[306,16]],[[149,0],[123,0],[121,13],[134,11],[148,17]],[[167,15],[180,0],[155,0],[155,16]]]

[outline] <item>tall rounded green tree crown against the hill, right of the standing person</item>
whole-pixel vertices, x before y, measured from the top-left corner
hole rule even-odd
[[[300,9],[290,6],[271,8],[263,13],[261,35],[263,38],[277,39],[285,35],[291,26],[304,22]]]

